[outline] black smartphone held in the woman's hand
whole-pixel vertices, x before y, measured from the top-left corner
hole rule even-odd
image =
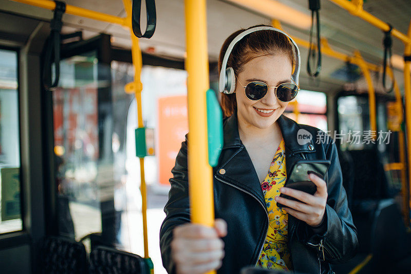
[[[304,191],[308,194],[313,195],[317,191],[317,187],[310,180],[309,174],[314,173],[320,178],[324,179],[325,174],[327,173],[328,167],[330,166],[329,160],[301,160],[294,164],[291,168],[291,173],[288,176],[284,184],[287,188],[292,188],[296,190]],[[280,197],[296,200],[298,199],[285,195],[281,193]],[[283,204],[277,203],[277,207],[286,207]]]

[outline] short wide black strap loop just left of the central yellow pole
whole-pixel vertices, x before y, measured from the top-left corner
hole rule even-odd
[[[141,15],[141,0],[133,0],[132,11],[132,27],[133,32],[138,38],[151,38],[156,30],[156,3],[154,0],[145,0],[147,10],[147,26],[144,34],[141,33],[140,15]]]

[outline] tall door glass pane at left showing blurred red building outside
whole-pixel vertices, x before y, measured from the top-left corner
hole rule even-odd
[[[60,83],[53,92],[58,228],[76,240],[101,232],[96,57],[87,55],[60,62]]]

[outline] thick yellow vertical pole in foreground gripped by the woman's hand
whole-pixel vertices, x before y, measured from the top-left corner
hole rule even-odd
[[[206,92],[209,89],[206,0],[185,0],[189,105],[189,194],[191,221],[213,226],[213,174],[208,162]],[[214,271],[211,271],[214,273]]]

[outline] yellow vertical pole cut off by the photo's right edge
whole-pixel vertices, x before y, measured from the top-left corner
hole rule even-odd
[[[408,38],[411,39],[411,21],[408,26]],[[405,43],[404,56],[411,55],[411,42]],[[411,62],[404,61],[404,97],[405,97],[405,122],[406,122],[406,133],[407,133],[407,156],[408,156],[408,188],[409,196],[411,196],[411,184],[409,180],[411,179]],[[411,206],[411,205],[410,205]]]

